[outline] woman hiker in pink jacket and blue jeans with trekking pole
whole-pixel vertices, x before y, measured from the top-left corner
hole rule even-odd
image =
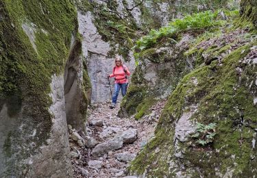
[[[121,94],[124,97],[127,92],[127,75],[130,76],[130,71],[127,66],[123,65],[121,62],[121,58],[117,56],[115,58],[115,66],[112,69],[112,74],[107,75],[109,77],[114,77],[115,85],[114,85],[114,94],[112,96],[112,105],[110,108],[113,109],[117,103],[119,90],[121,89]]]

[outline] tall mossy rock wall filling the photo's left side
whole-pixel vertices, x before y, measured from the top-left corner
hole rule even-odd
[[[65,108],[79,106],[82,129],[88,89],[75,5],[0,1],[0,12],[0,177],[72,177]]]

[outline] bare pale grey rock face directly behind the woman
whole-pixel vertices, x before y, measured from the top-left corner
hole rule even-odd
[[[82,51],[84,58],[88,62],[88,75],[92,84],[91,101],[93,103],[104,102],[112,97],[110,87],[112,91],[114,90],[114,79],[110,79],[110,86],[106,79],[106,76],[112,73],[114,66],[114,59],[107,56],[111,50],[110,44],[101,40],[97,28],[93,24],[93,16],[90,12],[86,14],[78,12],[77,16],[79,20],[79,34],[82,34],[83,37]],[[130,69],[132,75],[135,66],[132,52],[130,52],[130,59],[127,60],[130,62],[124,62],[123,60],[123,64]],[[121,99],[121,94],[119,94],[119,99]]]

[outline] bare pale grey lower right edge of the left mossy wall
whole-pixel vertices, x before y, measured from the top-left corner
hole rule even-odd
[[[72,175],[63,86],[63,77],[54,75],[50,94],[53,104],[49,108],[49,112],[53,116],[51,136],[47,140],[47,145],[44,144],[40,147],[40,153],[25,160],[27,174],[32,177],[34,175],[38,177],[71,177]]]

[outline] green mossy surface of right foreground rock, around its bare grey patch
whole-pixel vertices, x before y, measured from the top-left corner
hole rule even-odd
[[[256,44],[232,51],[222,59],[221,66],[213,62],[199,66],[182,79],[164,107],[156,137],[132,162],[130,173],[147,177],[216,177],[228,172],[234,177],[256,175],[257,162],[252,159],[256,157],[256,145],[252,140],[256,137],[257,86],[249,84],[256,80],[257,68],[244,62]],[[192,79],[197,79],[196,85]],[[190,136],[186,142],[174,144],[175,122],[191,105],[197,105],[192,122],[217,123],[217,136],[206,149],[193,145]],[[175,156],[175,149],[182,152],[182,158]]]

